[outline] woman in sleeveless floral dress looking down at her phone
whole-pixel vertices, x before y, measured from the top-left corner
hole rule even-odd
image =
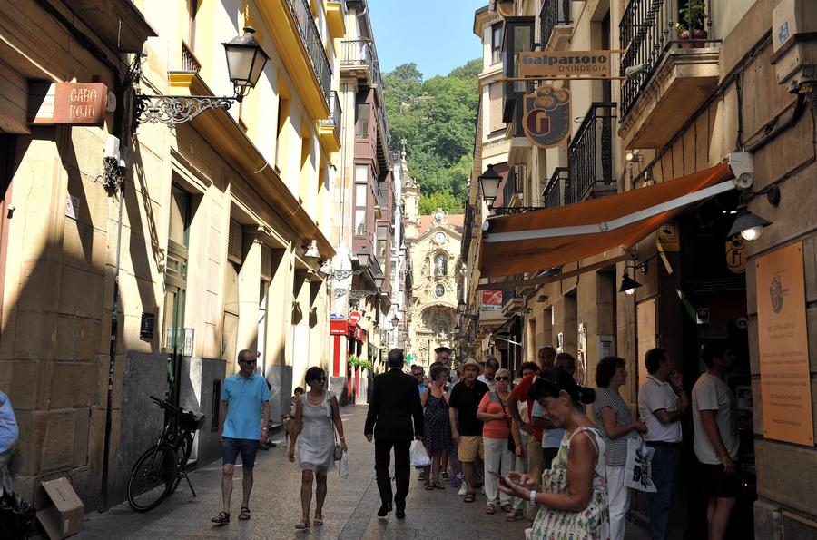
[[[605,441],[581,407],[593,403],[596,392],[578,386],[562,369],[547,368],[531,386],[530,396],[553,424],[565,427],[565,437],[541,482],[511,471],[497,479],[499,490],[541,505],[527,538],[609,538]]]

